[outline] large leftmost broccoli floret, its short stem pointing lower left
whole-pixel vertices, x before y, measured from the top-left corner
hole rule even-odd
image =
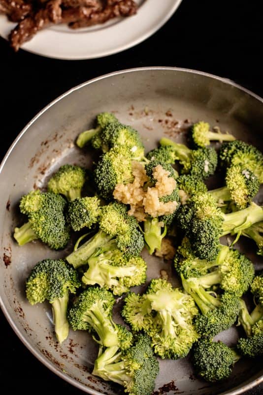
[[[32,191],[21,198],[20,210],[29,222],[15,228],[14,238],[24,245],[39,238],[52,249],[64,248],[69,240],[64,209],[66,200],[50,192]]]

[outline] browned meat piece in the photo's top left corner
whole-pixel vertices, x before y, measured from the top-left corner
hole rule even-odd
[[[32,4],[24,0],[0,0],[0,13],[12,22],[19,22],[32,11]]]

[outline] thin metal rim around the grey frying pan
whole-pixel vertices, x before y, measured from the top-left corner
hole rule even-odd
[[[212,79],[217,79],[217,80],[224,82],[230,86],[234,86],[234,87],[240,89],[241,91],[249,94],[250,96],[254,97],[255,99],[259,100],[261,103],[263,103],[263,98],[261,96],[257,95],[256,93],[252,92],[251,90],[249,90],[247,88],[244,88],[242,85],[237,84],[236,82],[234,82],[231,79],[219,77],[214,74],[210,74],[210,73],[206,73],[206,72],[202,72],[202,71],[198,71],[198,70],[194,70],[194,69],[186,69],[186,68],[180,68],[180,67],[165,67],[165,66],[148,66],[148,67],[136,67],[136,68],[132,68],[132,69],[119,70],[119,71],[103,74],[99,77],[95,77],[93,79],[89,79],[85,82],[82,82],[82,83],[74,86],[73,88],[67,90],[66,92],[64,92],[63,94],[58,96],[56,99],[52,100],[49,104],[47,104],[42,110],[40,110],[29,121],[26,124],[26,126],[21,130],[21,132],[17,135],[17,137],[15,138],[15,140],[13,141],[13,143],[10,145],[9,149],[7,150],[5,156],[3,157],[3,159],[0,163],[0,177],[1,177],[2,169],[5,165],[5,162],[9,158],[11,152],[13,151],[13,149],[15,148],[15,146],[17,145],[17,143],[19,142],[21,137],[27,132],[29,127],[35,122],[36,119],[41,117],[41,115],[44,114],[50,107],[52,107],[54,104],[56,104],[57,102],[62,100],[64,97],[71,94],[75,90],[81,89],[82,87],[84,87],[86,85],[90,85],[90,84],[97,82],[99,80],[102,80],[102,79],[114,77],[114,76],[121,75],[121,74],[128,74],[128,73],[133,73],[133,72],[138,72],[138,71],[153,71],[153,70],[185,72],[185,73],[189,73],[189,74],[197,74],[200,76],[209,77]],[[91,395],[101,395],[100,392],[93,390],[89,387],[86,387],[84,384],[81,384],[81,383],[77,382],[76,380],[74,380],[74,378],[66,375],[64,372],[62,372],[57,367],[55,367],[53,365],[53,363],[51,361],[49,361],[45,356],[43,356],[43,354],[41,354],[40,351],[33,348],[33,346],[30,344],[30,342],[25,338],[25,335],[22,333],[22,331],[19,330],[16,322],[9,315],[9,313],[2,301],[1,296],[0,296],[0,308],[1,308],[5,318],[7,319],[8,323],[10,324],[11,328],[13,329],[15,334],[18,336],[18,338],[21,340],[21,342],[27,347],[27,349],[33,354],[33,356],[35,356],[44,366],[46,366],[49,370],[51,370],[53,373],[55,373],[61,379],[65,380],[67,383],[73,385],[74,387],[76,387],[88,394],[91,394]],[[240,395],[243,392],[251,390],[256,385],[259,385],[261,383],[263,383],[263,375],[261,377],[255,379],[251,383],[248,383],[248,384],[242,386],[239,389],[236,389],[236,390],[234,389],[234,390],[231,390],[230,392],[224,392],[221,395]]]

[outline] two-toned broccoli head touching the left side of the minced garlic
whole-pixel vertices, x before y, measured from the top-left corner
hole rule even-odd
[[[111,149],[99,158],[94,180],[101,197],[111,199],[116,184],[132,182],[132,179],[132,159],[123,150]]]

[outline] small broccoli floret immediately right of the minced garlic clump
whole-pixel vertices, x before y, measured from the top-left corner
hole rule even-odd
[[[196,176],[183,174],[179,176],[176,181],[182,204],[185,204],[189,199],[197,194],[207,192],[206,185]]]

